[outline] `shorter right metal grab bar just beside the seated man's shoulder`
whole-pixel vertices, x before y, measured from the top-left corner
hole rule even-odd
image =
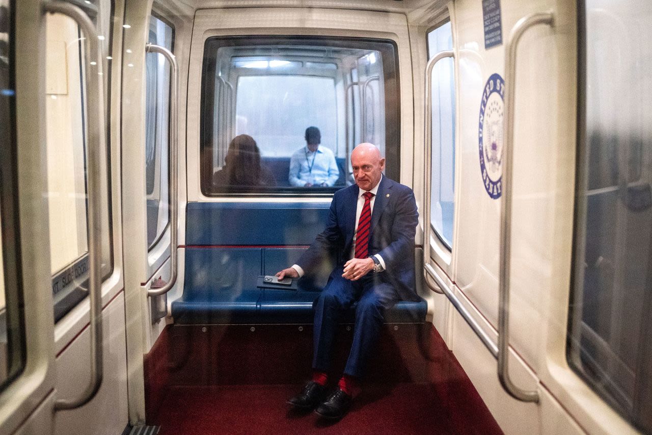
[[[424,88],[426,94],[426,110],[425,110],[426,128],[424,130],[424,140],[426,145],[426,160],[424,163],[428,166],[424,167],[423,170],[425,210],[422,211],[423,265],[424,265],[423,274],[426,283],[428,283],[428,271],[425,266],[430,266],[428,265],[428,263],[430,263],[430,195],[432,194],[432,192],[430,191],[431,184],[432,184],[432,174],[430,173],[430,167],[432,166],[431,165],[432,162],[432,87],[430,86],[430,76],[432,75],[432,69],[435,66],[435,64],[439,62],[441,59],[445,59],[446,57],[455,57],[455,54],[452,52],[452,50],[439,52],[436,54],[436,56],[432,57],[432,59],[430,59],[428,61],[428,64],[426,65],[426,84]],[[430,287],[430,285],[428,285],[428,287]],[[445,295],[443,290],[434,289],[433,287],[430,287],[430,289],[432,289],[432,291],[434,291],[435,293],[439,293],[440,295]]]

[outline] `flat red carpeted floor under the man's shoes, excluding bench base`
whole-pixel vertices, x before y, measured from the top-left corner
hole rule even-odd
[[[368,385],[341,421],[286,404],[301,385],[173,387],[161,409],[160,435],[454,434],[428,383]]]

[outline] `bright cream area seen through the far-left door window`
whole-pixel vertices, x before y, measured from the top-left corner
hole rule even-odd
[[[86,236],[85,131],[80,80],[82,41],[76,22],[47,16],[46,113],[48,203],[52,273],[88,250]]]

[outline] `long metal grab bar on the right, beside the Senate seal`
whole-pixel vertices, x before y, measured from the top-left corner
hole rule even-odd
[[[500,219],[500,268],[498,298],[498,379],[510,396],[523,402],[539,402],[537,391],[516,387],[509,377],[509,272],[511,254],[512,159],[514,150],[514,90],[516,89],[516,48],[523,33],[537,24],[553,25],[554,14],[542,12],[518,20],[505,47],[505,119],[503,120],[503,198]]]

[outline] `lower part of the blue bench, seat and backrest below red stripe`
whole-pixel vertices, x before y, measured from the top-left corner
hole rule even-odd
[[[298,289],[261,289],[258,276],[293,264],[305,248],[186,248],[183,295],[172,302],[182,325],[312,323],[312,303],[327,282],[323,274],[299,280]],[[426,302],[401,301],[386,314],[388,323],[422,323]],[[342,318],[353,323],[355,307]]]

